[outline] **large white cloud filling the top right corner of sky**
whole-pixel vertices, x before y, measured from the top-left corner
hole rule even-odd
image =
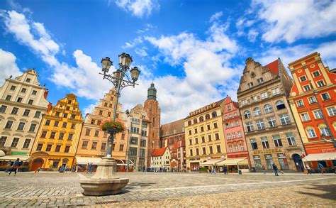
[[[267,42],[293,43],[336,33],[336,1],[255,0],[252,4],[258,8],[257,18],[266,22],[262,38]]]

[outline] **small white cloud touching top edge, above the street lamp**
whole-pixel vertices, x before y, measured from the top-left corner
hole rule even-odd
[[[116,0],[116,5],[134,16],[150,16],[153,9],[159,9],[157,0]]]

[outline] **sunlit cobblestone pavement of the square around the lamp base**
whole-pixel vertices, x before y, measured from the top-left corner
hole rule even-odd
[[[336,207],[336,175],[268,173],[118,173],[130,182],[122,194],[82,195],[86,173],[0,173],[0,207]]]

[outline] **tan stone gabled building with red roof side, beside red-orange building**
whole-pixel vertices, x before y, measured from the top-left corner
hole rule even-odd
[[[293,82],[281,60],[246,60],[237,91],[252,170],[303,171],[305,153],[287,98]]]

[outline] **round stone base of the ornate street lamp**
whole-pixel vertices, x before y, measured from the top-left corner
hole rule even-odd
[[[103,158],[98,163],[94,176],[90,179],[80,180],[84,189],[83,195],[103,196],[116,195],[128,184],[128,178],[116,177],[116,161],[112,158]]]

